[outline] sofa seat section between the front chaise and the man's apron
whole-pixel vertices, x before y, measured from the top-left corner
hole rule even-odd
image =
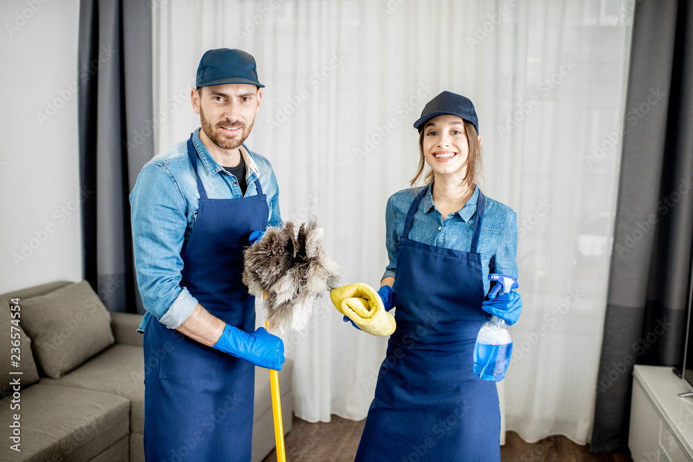
[[[130,400],[130,432],[144,432],[144,352],[116,344],[59,380],[42,377],[44,385],[105,391]]]

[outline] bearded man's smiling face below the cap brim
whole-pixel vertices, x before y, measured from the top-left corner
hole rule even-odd
[[[262,91],[255,85],[229,83],[193,90],[193,109],[200,114],[202,141],[234,150],[247,139],[260,109]]]

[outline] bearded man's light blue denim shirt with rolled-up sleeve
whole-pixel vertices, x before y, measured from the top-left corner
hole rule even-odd
[[[198,149],[198,172],[207,197],[236,199],[243,197],[234,175],[224,170],[200,140],[199,128],[193,132]],[[188,141],[181,141],[150,160],[142,168],[130,193],[132,240],[137,283],[147,313],[139,331],[144,332],[152,314],[175,329],[193,312],[198,301],[180,285],[182,249],[188,242],[200,204],[195,170],[188,159]],[[242,145],[248,188],[245,197],[257,195],[258,177],[267,195],[270,214],[267,226],[281,223],[279,188],[267,161]]]

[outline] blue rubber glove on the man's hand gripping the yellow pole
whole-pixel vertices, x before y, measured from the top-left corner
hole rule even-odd
[[[277,371],[281,371],[281,364],[284,362],[283,341],[263,327],[249,334],[227,324],[224,333],[212,348],[245,359],[256,366]]]

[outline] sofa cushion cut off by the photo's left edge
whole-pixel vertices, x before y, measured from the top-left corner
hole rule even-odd
[[[12,303],[12,308],[15,306],[17,305]],[[10,304],[0,299],[0,393],[3,395],[12,391],[16,380],[19,380],[20,387],[39,380],[34,357],[31,355],[31,339],[21,328],[21,300],[18,306],[19,310],[15,308],[15,312],[19,313],[19,317],[15,318],[18,321],[15,324],[12,323]],[[19,354],[15,356],[15,353]],[[14,361],[17,361],[18,367],[12,366]]]

